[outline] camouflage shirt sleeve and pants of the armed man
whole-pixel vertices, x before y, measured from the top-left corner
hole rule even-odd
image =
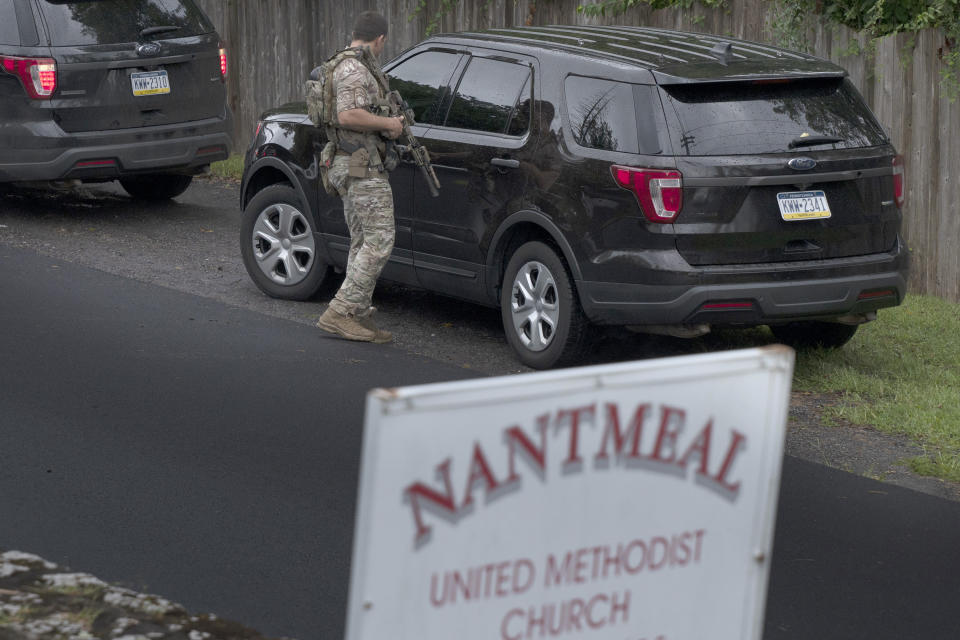
[[[333,72],[337,113],[365,109],[380,97],[373,75],[356,58],[347,58]],[[343,198],[343,213],[350,228],[347,272],[330,308],[341,315],[365,318],[380,272],[393,250],[395,225],[393,191],[386,172],[374,169],[367,177],[350,176],[350,157],[338,153],[328,174]]]

